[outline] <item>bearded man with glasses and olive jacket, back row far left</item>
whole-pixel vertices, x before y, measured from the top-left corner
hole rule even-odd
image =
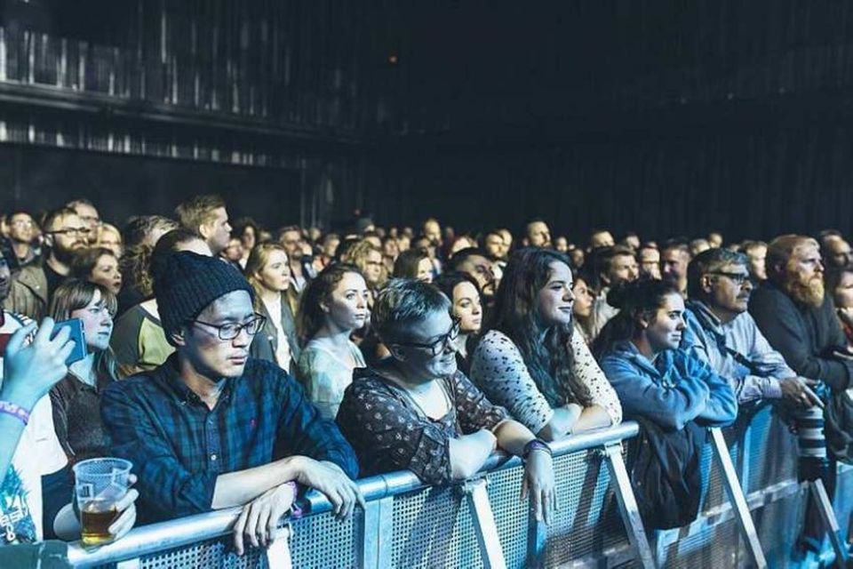
[[[91,229],[77,213],[60,207],[44,218],[44,244],[48,252],[44,262],[21,268],[15,273],[12,291],[4,309],[40,320],[44,317],[51,295],[71,270],[76,252],[89,246]]]

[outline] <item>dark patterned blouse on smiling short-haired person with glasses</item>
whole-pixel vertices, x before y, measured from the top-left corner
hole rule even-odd
[[[494,429],[507,419],[464,373],[442,382],[450,411],[431,419],[394,381],[372,369],[356,369],[338,412],[338,425],[353,445],[363,477],[411,470],[426,484],[450,480],[450,439]]]

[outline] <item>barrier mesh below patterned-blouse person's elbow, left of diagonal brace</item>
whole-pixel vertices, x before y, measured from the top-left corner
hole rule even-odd
[[[474,525],[458,487],[432,487],[395,497],[391,565],[482,567]]]

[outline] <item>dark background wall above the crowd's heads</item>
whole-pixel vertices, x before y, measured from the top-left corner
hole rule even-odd
[[[32,171],[64,164],[124,172],[116,216],[244,186],[270,223],[361,207],[473,230],[543,217],[578,240],[851,230],[845,2],[127,4],[3,3],[14,204],[53,196],[40,180],[62,178]]]

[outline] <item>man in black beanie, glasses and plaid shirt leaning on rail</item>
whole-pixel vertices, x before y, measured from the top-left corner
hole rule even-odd
[[[355,453],[281,368],[249,359],[264,318],[234,267],[194,252],[155,267],[155,296],[176,348],[150,373],[104,391],[112,452],[133,462],[143,522],[243,506],[235,546],[271,539],[298,485],[349,517],[363,498]],[[279,460],[274,461],[275,458]],[[281,458],[285,457],[285,458]]]

